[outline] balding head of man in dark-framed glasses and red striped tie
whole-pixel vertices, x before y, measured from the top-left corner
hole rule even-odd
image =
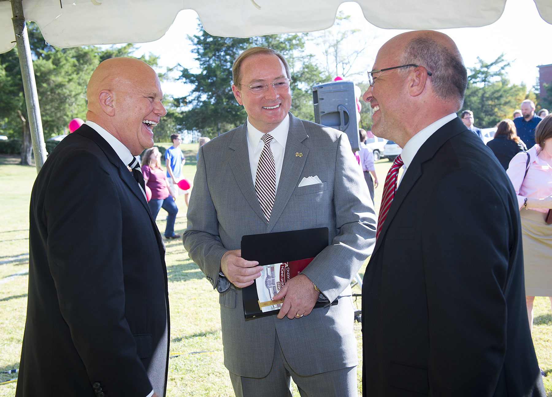
[[[363,99],[374,109],[372,130],[401,147],[464,102],[466,68],[443,33],[417,30],[393,37],[376,56],[373,70],[381,69],[372,74],[373,86]]]

